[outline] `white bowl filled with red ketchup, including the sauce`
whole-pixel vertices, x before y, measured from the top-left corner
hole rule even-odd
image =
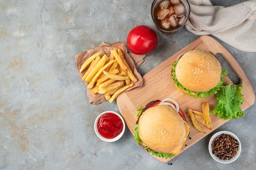
[[[124,130],[123,117],[114,111],[101,113],[94,122],[94,131],[103,141],[117,141],[124,134]]]

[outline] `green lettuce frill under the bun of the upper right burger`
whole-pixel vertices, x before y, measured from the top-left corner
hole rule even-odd
[[[186,88],[184,88],[180,82],[178,82],[177,80],[177,77],[176,77],[176,74],[175,74],[175,69],[176,69],[176,66],[177,66],[177,63],[178,63],[179,60],[176,60],[176,62],[174,62],[172,64],[172,78],[173,78],[173,82],[174,84],[179,87],[180,89],[186,91],[191,97],[194,97],[195,99],[196,98],[202,98],[202,99],[205,99],[205,97],[209,96],[209,95],[212,95],[212,94],[216,94],[218,93],[218,91],[220,90],[220,87],[222,86],[222,83],[224,82],[224,79],[220,79],[220,82],[217,84],[217,86],[215,86],[214,88],[212,88],[211,90],[209,91],[206,91],[206,92],[194,92],[194,91],[190,91]],[[225,76],[227,77],[227,71],[221,69],[221,76]]]

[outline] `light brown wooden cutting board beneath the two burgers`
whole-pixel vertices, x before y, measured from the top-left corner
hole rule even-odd
[[[190,97],[189,95],[183,94],[182,92],[178,91],[173,84],[173,80],[171,78],[171,64],[175,62],[177,56],[180,53],[195,49],[211,51],[214,54],[221,53],[225,60],[227,60],[231,68],[234,70],[236,75],[240,78],[240,84],[243,84],[242,94],[244,95],[244,102],[240,106],[241,109],[245,110],[246,108],[254,104],[255,95],[253,88],[238,62],[229,53],[229,51],[227,51],[227,49],[225,49],[224,46],[222,46],[218,41],[208,35],[203,35],[188,46],[184,47],[184,49],[180,50],[179,52],[168,58],[163,63],[159,64],[159,66],[148,72],[146,75],[144,75],[143,86],[134,88],[119,95],[119,97],[117,98],[118,108],[126,122],[126,125],[128,126],[129,130],[132,132],[133,135],[135,135],[133,126],[135,126],[137,121],[137,109],[139,109],[140,105],[146,106],[148,102],[156,99],[162,100],[167,97],[175,99],[178,104],[180,104],[180,108],[182,108],[184,114],[187,113],[187,110],[189,108],[202,112],[203,102],[209,103],[210,111],[215,108],[217,104],[216,95],[206,97],[204,100],[194,99],[193,97]],[[225,85],[233,84],[229,77],[225,77],[224,79]],[[210,115],[210,117],[212,120],[212,130],[209,130],[206,127],[202,126],[202,128],[204,128],[206,132],[204,134],[193,127],[189,116],[186,115],[186,118],[189,121],[188,124],[190,125],[190,135],[184,143],[181,152],[195,144],[203,137],[209,135],[209,133],[211,133],[213,130],[228,121],[224,119],[219,119],[216,115]],[[143,151],[144,149],[141,147],[141,150]],[[155,156],[153,157],[162,163],[167,163],[174,158],[172,157],[171,159],[163,159]]]

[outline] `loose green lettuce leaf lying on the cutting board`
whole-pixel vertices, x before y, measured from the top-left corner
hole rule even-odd
[[[240,106],[243,104],[242,91],[243,84],[241,85],[227,85],[222,86],[220,91],[216,94],[218,104],[216,108],[211,111],[212,115],[217,114],[218,118],[222,119],[237,119],[238,117],[245,116]]]

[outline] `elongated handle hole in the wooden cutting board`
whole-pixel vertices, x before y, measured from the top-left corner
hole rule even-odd
[[[229,78],[231,79],[231,81],[238,85],[240,83],[240,78],[238,77],[238,75],[236,75],[236,73],[234,72],[234,70],[231,68],[231,66],[229,65],[229,63],[227,62],[227,60],[225,59],[225,57],[223,57],[223,55],[221,53],[216,53],[215,54],[216,57],[219,59],[221,67],[224,70],[227,70],[227,75],[229,76]]]

